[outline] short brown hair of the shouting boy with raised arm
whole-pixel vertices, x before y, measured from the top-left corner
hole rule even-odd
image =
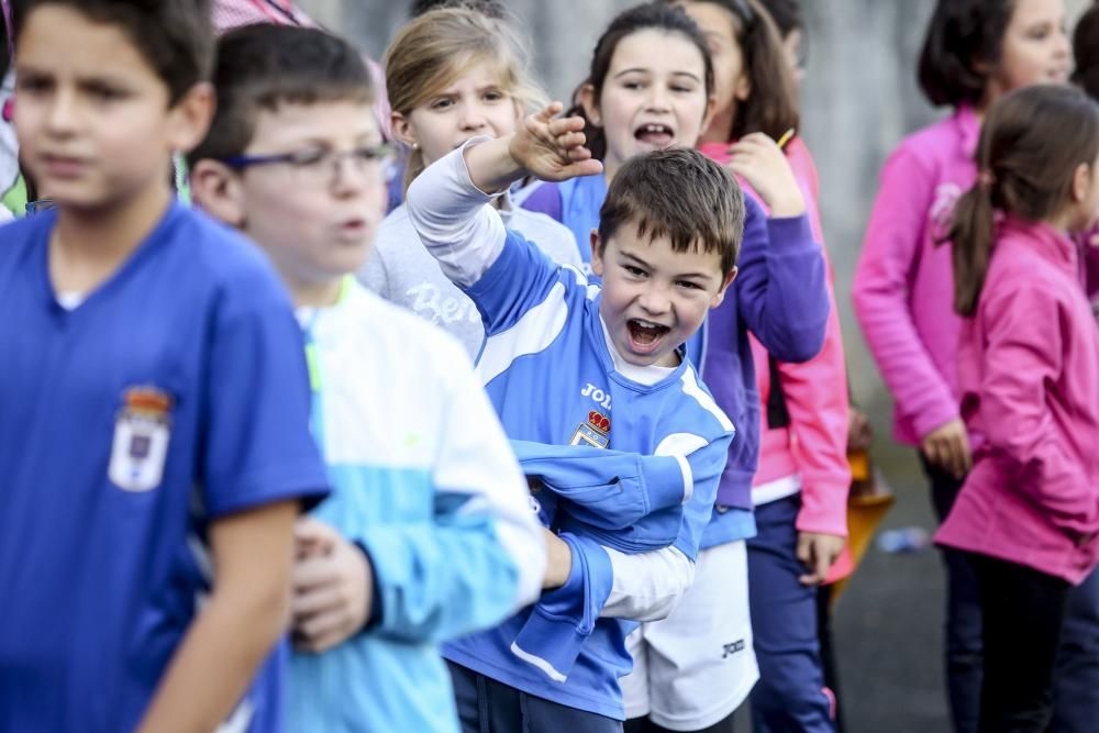
[[[668,148],[630,158],[599,210],[599,252],[618,230],[666,236],[675,252],[717,252],[721,273],[736,266],[744,237],[744,195],[736,179],[698,151]]]

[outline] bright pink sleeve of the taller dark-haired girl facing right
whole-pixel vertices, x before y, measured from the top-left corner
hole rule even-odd
[[[855,268],[855,318],[899,414],[922,437],[958,417],[950,386],[915,330],[911,280],[923,246],[934,181],[904,146],[881,171],[878,197]]]

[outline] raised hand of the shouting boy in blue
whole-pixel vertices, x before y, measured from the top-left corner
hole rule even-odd
[[[584,118],[555,119],[560,102],[523,120],[511,136],[508,151],[515,163],[542,180],[567,180],[602,173],[603,164],[584,146]]]

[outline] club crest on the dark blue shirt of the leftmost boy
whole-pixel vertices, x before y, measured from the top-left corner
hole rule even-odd
[[[171,436],[171,397],[155,387],[131,387],[114,421],[108,477],[125,491],[160,485]]]

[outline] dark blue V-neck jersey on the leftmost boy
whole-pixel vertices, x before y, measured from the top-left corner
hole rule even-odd
[[[0,730],[131,731],[210,588],[210,524],[328,479],[252,244],[174,204],[66,308],[54,223],[0,229]],[[278,660],[232,730],[281,730]]]

